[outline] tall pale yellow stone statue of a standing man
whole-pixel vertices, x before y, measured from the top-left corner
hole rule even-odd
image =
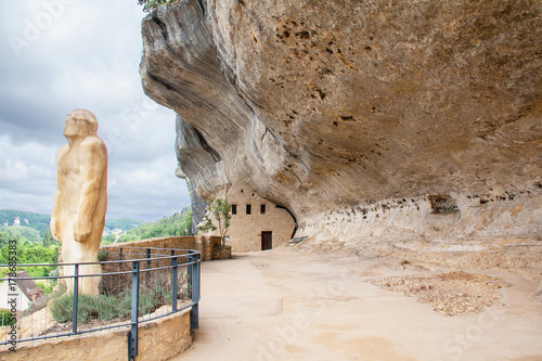
[[[64,124],[67,144],[56,153],[56,191],[51,234],[62,243],[64,263],[96,262],[107,208],[107,150],[98,137],[95,116],[86,109],[69,113]],[[74,266],[63,268],[74,274]],[[79,274],[101,274],[100,265],[83,265]],[[73,280],[66,279],[68,292]],[[79,293],[98,295],[100,276],[82,278]]]

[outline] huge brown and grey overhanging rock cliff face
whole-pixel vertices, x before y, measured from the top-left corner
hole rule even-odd
[[[541,232],[538,1],[181,0],[142,36],[204,201],[244,181],[346,242]]]

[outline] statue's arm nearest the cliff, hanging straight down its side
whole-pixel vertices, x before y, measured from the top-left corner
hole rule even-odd
[[[94,209],[98,205],[102,180],[107,177],[107,151],[100,138],[85,144],[81,155],[81,171],[83,184],[79,197],[79,209],[74,224],[74,238],[77,242],[87,241],[92,231]]]

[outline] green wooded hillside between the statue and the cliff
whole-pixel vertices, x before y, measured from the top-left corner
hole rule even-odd
[[[192,234],[192,209],[185,207],[181,212],[171,217],[164,217],[156,222],[143,223],[138,228],[131,229],[125,234],[117,236],[109,234],[102,238],[102,244],[115,242],[133,242],[139,240],[149,240],[164,236],[178,236]]]

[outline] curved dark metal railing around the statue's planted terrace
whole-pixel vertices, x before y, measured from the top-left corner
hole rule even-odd
[[[0,265],[0,270],[9,268],[12,271],[8,273],[9,278],[0,279],[0,282],[8,282],[5,289],[10,292],[5,295],[9,305],[0,305],[0,308],[11,310],[12,317],[16,317],[15,326],[10,326],[9,332],[5,331],[4,339],[0,339],[0,346],[14,347],[18,343],[30,340],[129,326],[128,357],[131,360],[138,356],[140,323],[191,307],[191,328],[198,327],[199,252],[102,246],[99,258],[104,260],[87,263]],[[90,265],[100,265],[102,273],[81,274],[86,273],[80,272],[81,268]],[[15,278],[13,273],[14,269],[36,270],[54,267],[61,270],[61,274]],[[100,295],[79,294],[80,284],[88,278],[93,278],[93,282],[100,282]],[[21,286],[34,283],[54,291],[30,300],[30,309],[22,313],[13,300],[17,300],[15,296],[18,296],[22,305],[26,296],[24,292],[18,292]],[[73,292],[66,292],[66,285]],[[53,322],[52,317],[60,320]]]

